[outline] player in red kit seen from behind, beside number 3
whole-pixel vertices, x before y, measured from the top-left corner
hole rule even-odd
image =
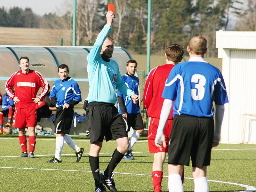
[[[184,49],[179,44],[170,44],[166,47],[164,59],[165,65],[153,68],[149,74],[144,88],[143,105],[150,117],[150,125],[148,129],[148,149],[149,153],[154,153],[154,162],[152,167],[152,180],[155,192],[161,192],[161,182],[163,178],[163,165],[166,153],[168,152],[168,145],[162,150],[156,147],[155,138],[159,123],[160,113],[163,106],[164,98],[162,93],[164,90],[165,81],[168,78],[170,71],[174,65],[182,60]],[[166,143],[168,143],[169,135],[172,128],[172,112],[168,118],[165,126],[164,136]],[[184,172],[183,172],[184,178]]]

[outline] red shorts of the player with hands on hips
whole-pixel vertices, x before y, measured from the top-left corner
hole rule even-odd
[[[17,128],[36,127],[37,109],[15,108],[12,126]]]

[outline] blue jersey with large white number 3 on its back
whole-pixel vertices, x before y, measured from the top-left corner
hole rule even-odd
[[[175,100],[173,116],[213,117],[213,101],[216,105],[228,103],[220,70],[203,59],[175,65],[165,82],[162,97]]]

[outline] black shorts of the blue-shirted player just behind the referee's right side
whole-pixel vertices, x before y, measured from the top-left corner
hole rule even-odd
[[[126,125],[127,132],[131,130],[131,127],[134,130],[144,129],[144,125],[143,125],[143,121],[140,113],[128,113],[127,119],[125,119],[124,117],[122,117],[122,119],[124,120],[124,123]]]

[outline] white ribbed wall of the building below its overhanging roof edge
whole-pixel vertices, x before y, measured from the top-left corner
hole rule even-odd
[[[230,51],[229,142],[247,140],[256,143],[256,118],[250,120],[246,116],[245,125],[241,120],[243,114],[256,115],[255,73],[256,50]],[[247,138],[242,138],[245,135]]]

